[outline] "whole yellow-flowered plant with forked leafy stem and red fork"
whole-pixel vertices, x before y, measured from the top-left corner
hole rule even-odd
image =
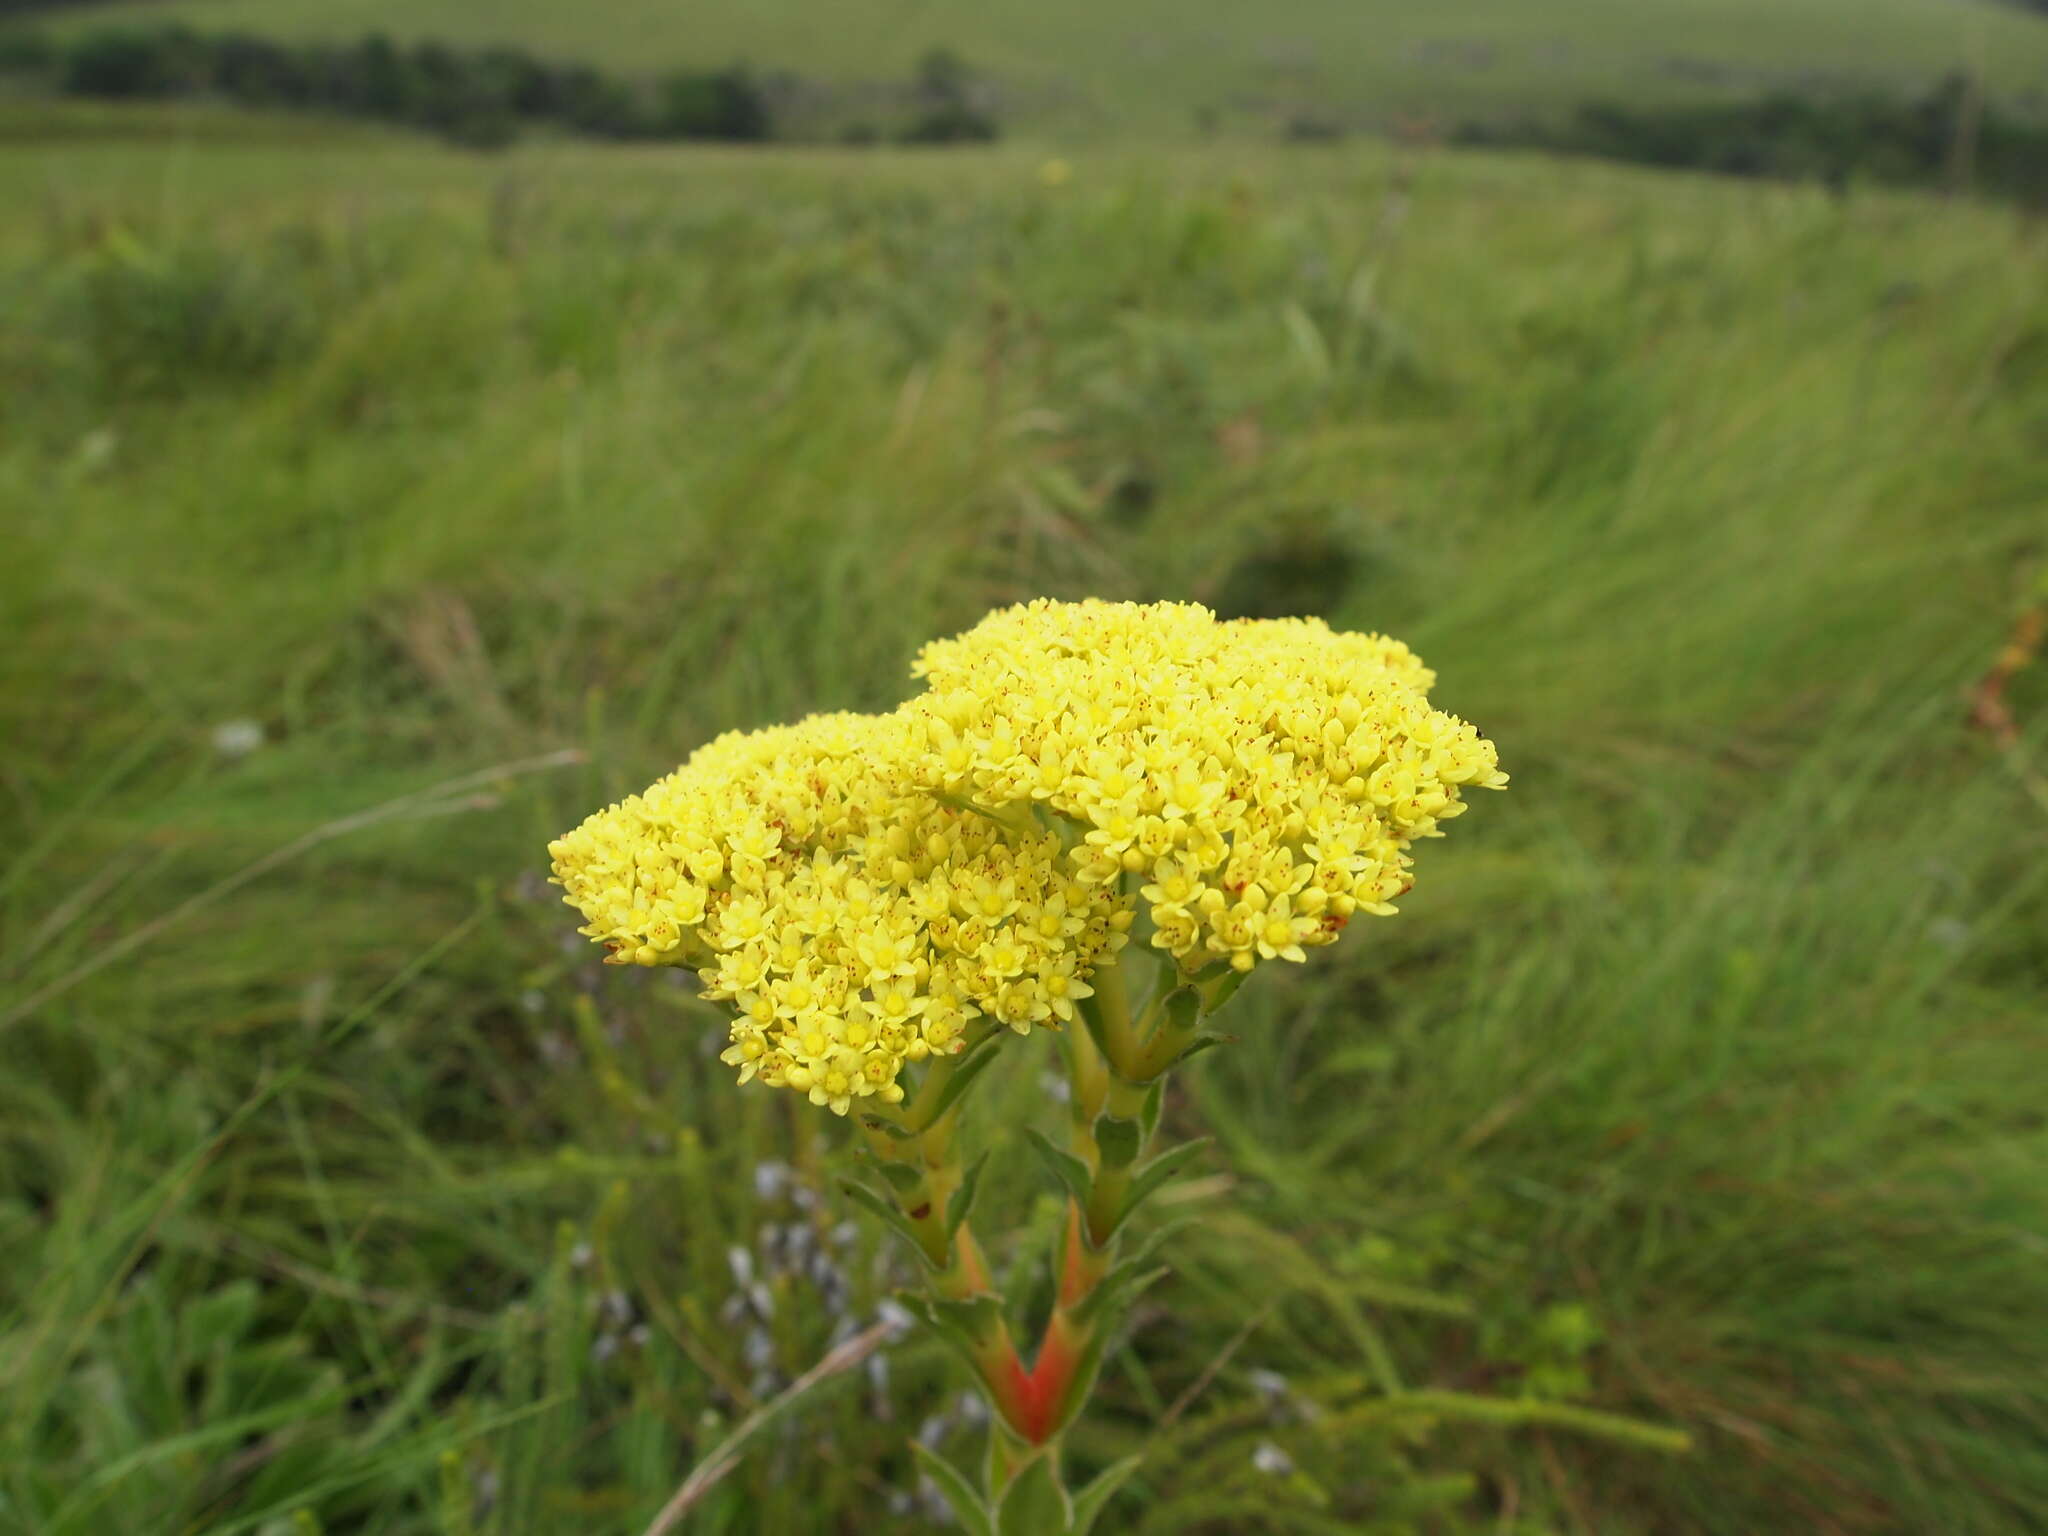
[[[1157,1149],[1167,1073],[1243,979],[1389,915],[1409,848],[1501,788],[1399,641],[1196,604],[1032,602],[928,645],[887,715],[731,733],[551,844],[616,965],[696,971],[723,1061],[858,1122],[848,1184],[918,1253],[918,1311],[995,1413],[979,1483],[928,1470],[983,1536],[1077,1536],[1061,1444],[1139,1292],[1130,1214],[1202,1143]],[[1130,954],[1159,971],[1135,997]],[[971,1225],[987,1151],[963,1104],[1010,1034],[1057,1032],[1065,1190],[1051,1315],[1026,1358]]]

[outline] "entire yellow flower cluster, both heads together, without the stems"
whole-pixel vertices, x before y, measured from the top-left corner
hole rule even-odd
[[[977,1018],[1071,1020],[1141,905],[1188,975],[1300,961],[1507,782],[1405,645],[1315,618],[1032,602],[915,670],[893,715],[723,735],[549,848],[612,963],[731,1006],[741,1081],[840,1114]]]

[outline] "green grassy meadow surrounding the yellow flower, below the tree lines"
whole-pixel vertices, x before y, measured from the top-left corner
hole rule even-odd
[[[1014,25],[946,41],[1051,70]],[[545,842],[1042,592],[1384,627],[1516,776],[1176,1092],[1114,1530],[2048,1524],[2048,801],[1964,719],[2048,559],[2038,223],[168,133],[0,147],[0,1532],[637,1536],[901,1276]],[[940,1530],[891,1489],[956,1391],[897,1346],[690,1530]]]

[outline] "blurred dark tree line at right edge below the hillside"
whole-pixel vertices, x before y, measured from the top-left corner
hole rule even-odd
[[[1667,170],[1835,188],[1855,180],[1974,188],[2048,205],[2048,123],[2001,109],[1964,76],[1917,98],[1780,92],[1688,106],[1589,102],[1563,123],[1468,123],[1454,137]]]

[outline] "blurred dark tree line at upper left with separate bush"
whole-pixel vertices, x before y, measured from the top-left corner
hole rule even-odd
[[[41,0],[39,0],[41,2]],[[0,0],[4,10],[27,8]],[[776,133],[770,92],[743,68],[625,80],[588,63],[555,63],[518,47],[446,43],[279,43],[188,27],[115,29],[68,41],[0,37],[0,72],[102,100],[207,96],[244,106],[371,117],[459,143],[508,143],[524,127],[606,139],[758,141]],[[911,86],[911,143],[993,139],[969,68],[934,51]],[[879,135],[877,135],[879,137]]]

